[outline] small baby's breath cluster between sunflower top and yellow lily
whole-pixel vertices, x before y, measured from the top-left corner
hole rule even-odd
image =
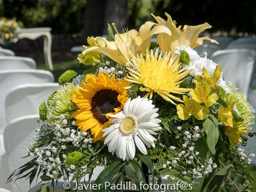
[[[99,70],[102,71],[104,74],[108,73],[110,76],[115,74],[116,80],[125,77],[128,72],[123,65],[117,63],[115,64],[115,66],[112,66],[109,61],[106,61],[104,63],[104,66],[100,66]]]

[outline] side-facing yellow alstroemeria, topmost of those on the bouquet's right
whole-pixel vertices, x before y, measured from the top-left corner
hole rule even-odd
[[[206,68],[203,68],[203,74],[204,76],[197,75],[195,77],[196,80],[199,82],[207,82],[210,86],[212,86],[212,88],[219,90],[217,83],[221,76],[221,67],[219,65],[216,66],[213,76],[210,75]]]

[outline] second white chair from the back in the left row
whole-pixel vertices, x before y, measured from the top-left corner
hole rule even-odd
[[[0,70],[35,68],[36,62],[32,58],[17,56],[0,56]]]

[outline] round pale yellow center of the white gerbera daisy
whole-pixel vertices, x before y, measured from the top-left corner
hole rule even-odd
[[[120,123],[120,131],[125,135],[133,134],[138,129],[138,121],[133,115],[125,116]]]

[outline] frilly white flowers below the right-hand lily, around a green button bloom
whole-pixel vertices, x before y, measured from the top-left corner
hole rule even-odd
[[[214,70],[216,69],[217,64],[213,62],[212,60],[207,58],[207,54],[204,54],[204,57],[201,57],[198,55],[198,53],[193,50],[190,46],[182,45],[181,47],[177,47],[177,50],[174,52],[176,54],[180,55],[180,52],[184,50],[188,53],[190,57],[190,64],[182,64],[182,67],[186,67],[186,70],[192,70],[190,72],[190,75],[195,77],[197,75],[203,76],[203,68],[206,68],[206,70],[210,73],[212,76],[214,73]],[[226,81],[224,80],[223,76],[221,75],[220,79],[217,83],[218,86],[222,87],[227,93],[229,92],[228,86],[226,85]]]

